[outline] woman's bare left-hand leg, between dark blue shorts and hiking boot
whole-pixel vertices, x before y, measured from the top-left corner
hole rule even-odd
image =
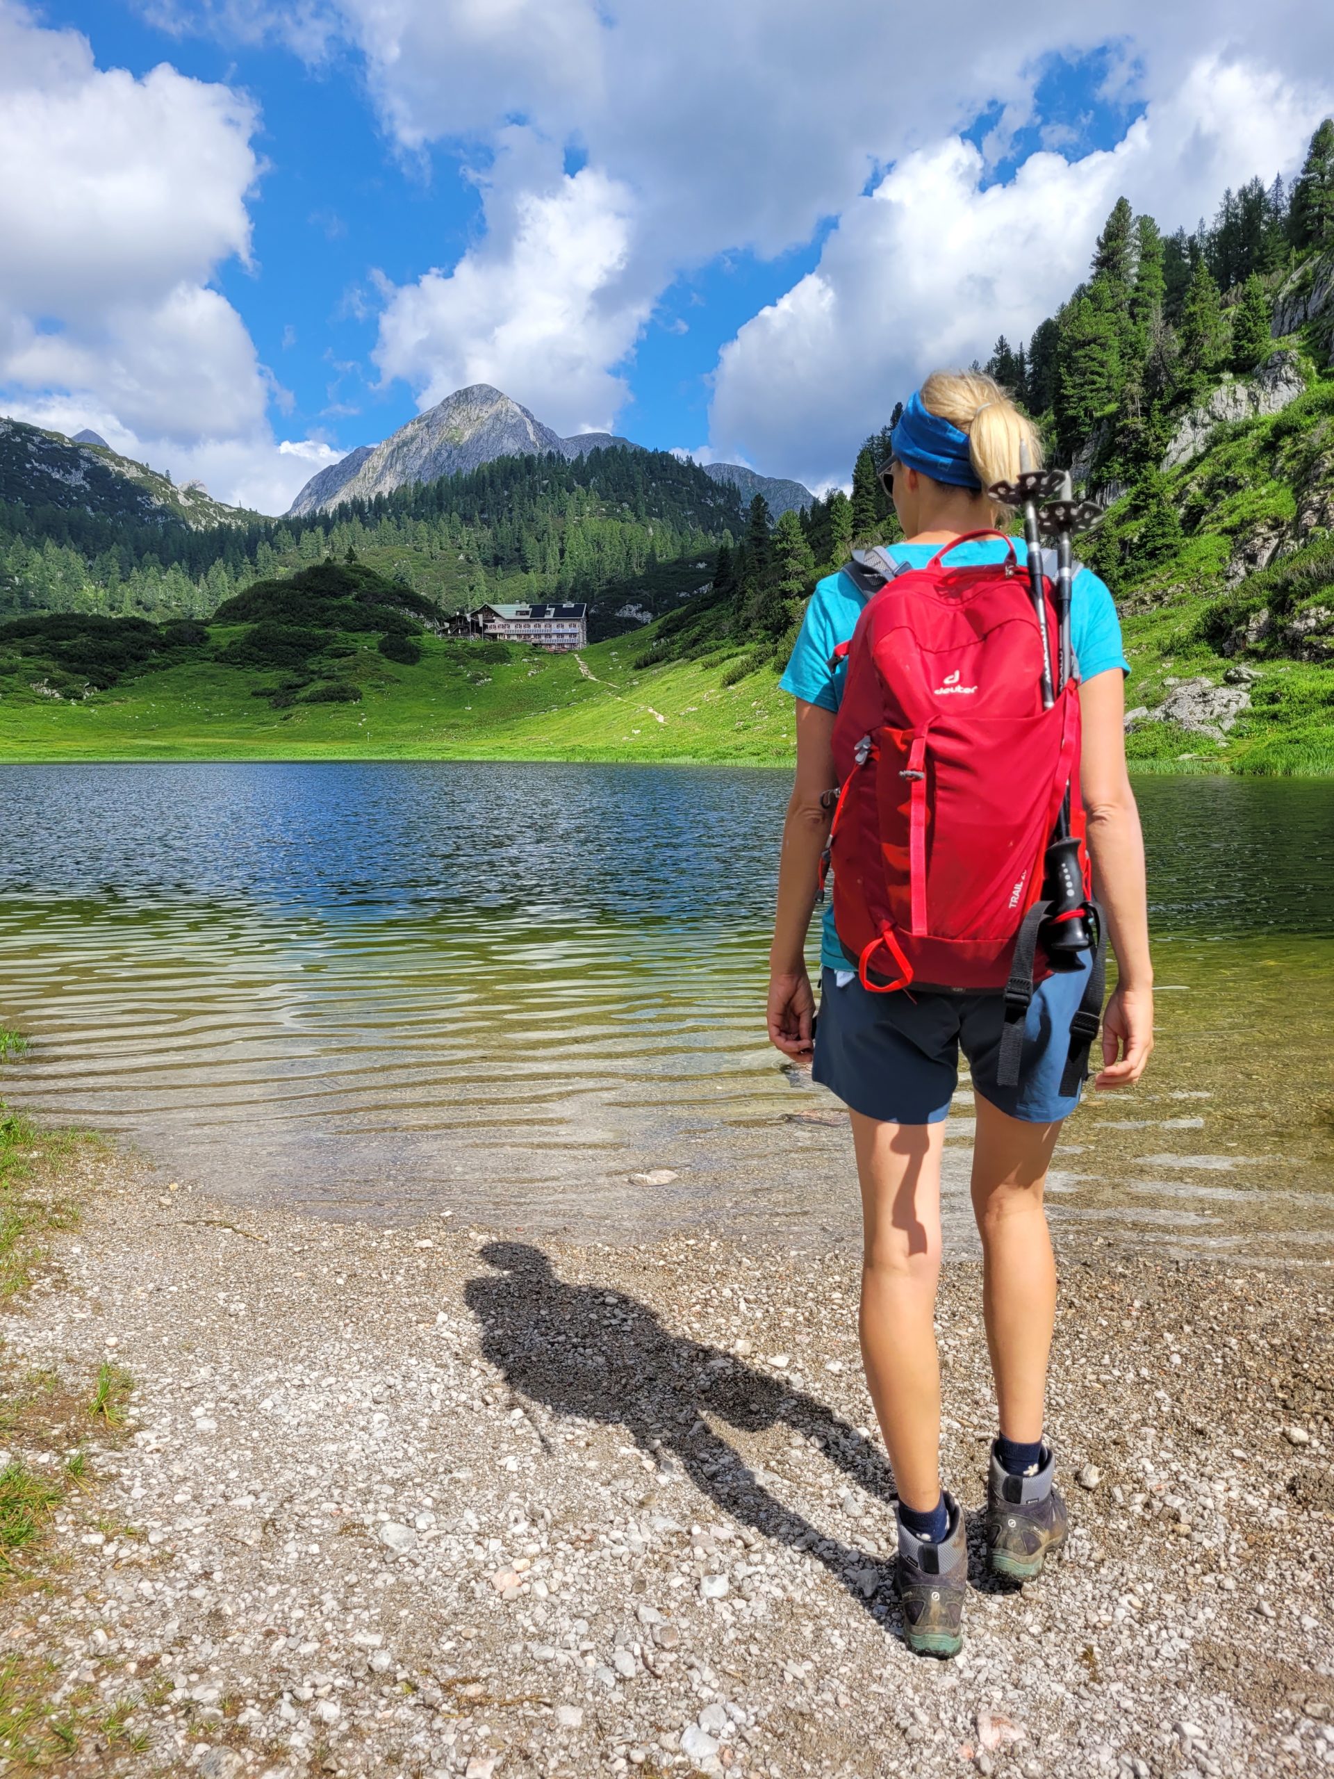
[[[861,1357],[898,1498],[928,1514],[941,1498],[936,1284],[944,1124],[850,1117],[864,1244]]]

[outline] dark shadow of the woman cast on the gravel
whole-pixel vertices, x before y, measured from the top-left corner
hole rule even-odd
[[[489,1242],[482,1260],[496,1274],[470,1279],[468,1308],[482,1352],[512,1389],[557,1414],[624,1427],[655,1457],[676,1457],[690,1480],[743,1526],[809,1551],[866,1606],[884,1617],[875,1592],[882,1558],[825,1537],[770,1494],[745,1461],[704,1421],[704,1411],[743,1432],[784,1421],[820,1439],[859,1487],[893,1501],[884,1455],[815,1397],[775,1382],[733,1354],[669,1332],[623,1292],[566,1284],[546,1254],[525,1242]],[[870,1596],[863,1587],[872,1587]]]

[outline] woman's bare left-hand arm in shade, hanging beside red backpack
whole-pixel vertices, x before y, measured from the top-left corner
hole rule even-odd
[[[774,945],[768,954],[768,1037],[786,1057],[809,1057],[815,994],[806,971],[806,932],[829,834],[822,797],[834,776],[834,712],[797,699],[797,777],[783,822]]]

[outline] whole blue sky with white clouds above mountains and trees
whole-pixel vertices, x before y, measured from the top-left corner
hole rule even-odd
[[[1032,331],[1122,190],[1170,228],[1291,169],[1332,100],[1307,12],[996,50],[969,0],[943,59],[850,0],[0,0],[0,100],[60,144],[0,197],[0,407],[265,511],[462,381],[841,480],[912,379]]]

